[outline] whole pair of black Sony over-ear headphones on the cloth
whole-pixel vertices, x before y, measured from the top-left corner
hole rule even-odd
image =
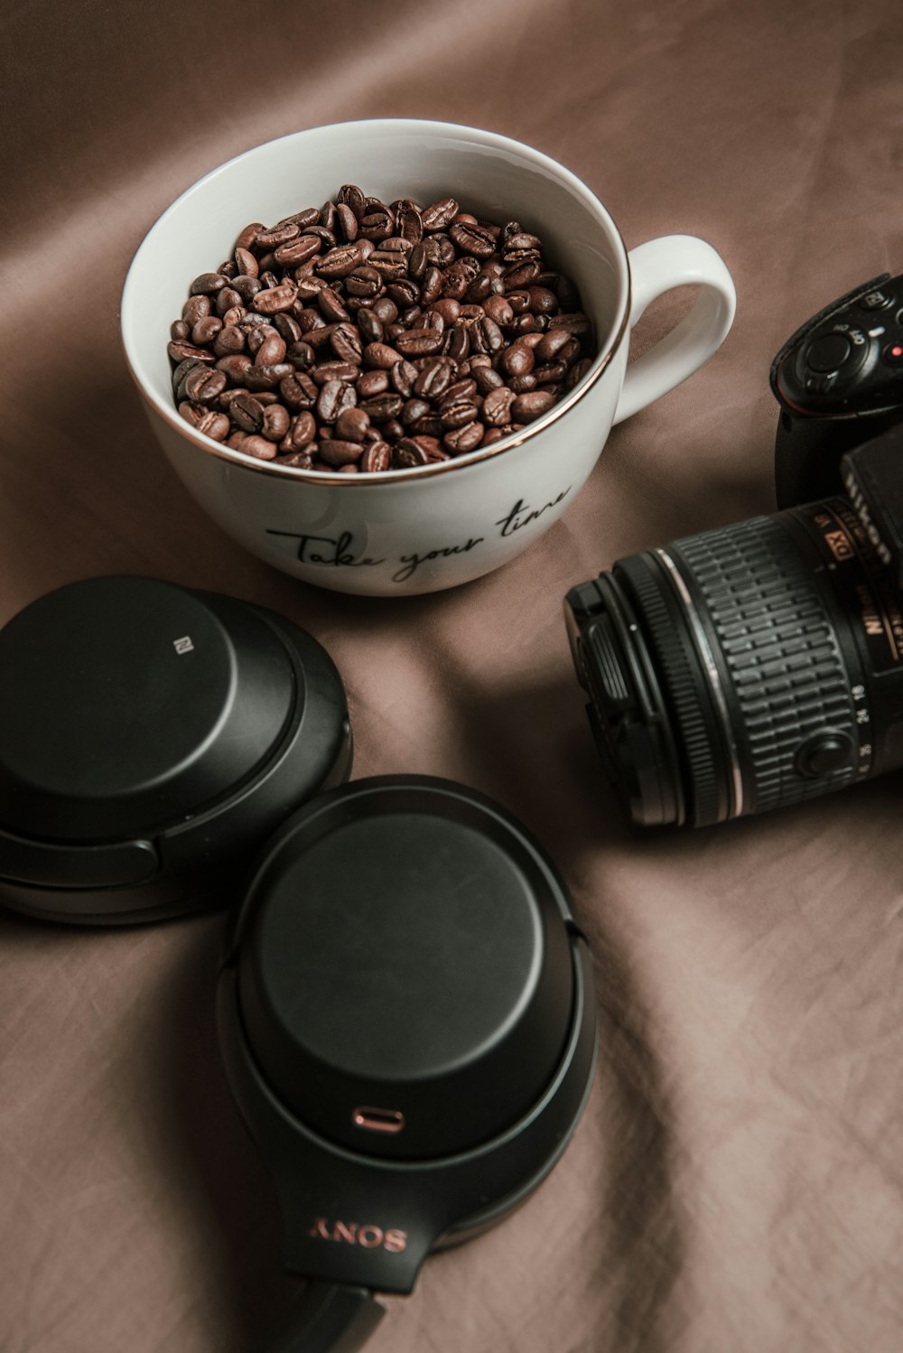
[[[410,1292],[433,1249],[523,1201],[580,1119],[592,965],[557,870],[461,785],[343,783],[330,659],[231,598],[61,589],[0,632],[0,708],[18,712],[0,731],[12,905],[172,915],[227,900],[226,873],[258,848],[218,1024],[285,1266],[307,1280],[268,1353],[351,1353],[383,1314],[374,1293]]]

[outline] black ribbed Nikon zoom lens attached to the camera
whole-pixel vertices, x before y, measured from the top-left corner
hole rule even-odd
[[[706,827],[903,764],[900,594],[846,499],[631,555],[565,614],[635,823]]]

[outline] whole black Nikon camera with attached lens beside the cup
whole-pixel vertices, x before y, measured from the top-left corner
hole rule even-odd
[[[710,825],[903,766],[902,317],[903,277],[876,277],[775,357],[784,510],[568,593],[589,723],[634,823]]]

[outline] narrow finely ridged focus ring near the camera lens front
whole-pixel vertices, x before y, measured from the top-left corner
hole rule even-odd
[[[616,564],[626,575],[638,602],[638,613],[649,626],[662,686],[679,728],[677,743],[687,763],[689,777],[688,817],[696,827],[722,821],[725,796],[719,787],[718,754],[711,714],[704,708],[706,685],[693,662],[688,636],[675,603],[666,593],[666,583],[657,566],[646,555],[631,555]]]

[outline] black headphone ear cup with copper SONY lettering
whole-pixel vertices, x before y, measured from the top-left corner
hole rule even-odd
[[[227,1076],[287,1268],[408,1292],[552,1169],[592,1081],[587,946],[497,805],[426,777],[331,790],[269,843],[219,982]]]

